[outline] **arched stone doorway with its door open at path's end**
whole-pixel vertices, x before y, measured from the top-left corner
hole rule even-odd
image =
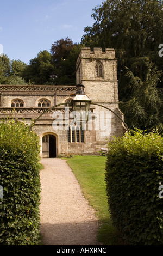
[[[55,158],[56,157],[56,137],[48,134],[42,137],[42,157]]]

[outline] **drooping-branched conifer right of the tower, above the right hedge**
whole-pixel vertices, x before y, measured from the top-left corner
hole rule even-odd
[[[157,88],[161,72],[149,61],[148,57],[143,60],[143,77],[134,76],[133,72],[126,68],[128,83],[124,93],[129,94],[127,100],[120,103],[121,109],[126,113],[127,123],[130,128],[158,129],[163,131],[162,124],[162,100],[161,89]],[[142,65],[139,65],[142,67]],[[146,67],[146,68],[145,68]]]

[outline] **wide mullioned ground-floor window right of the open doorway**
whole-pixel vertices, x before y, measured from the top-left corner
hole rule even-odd
[[[68,127],[68,142],[81,143],[84,142],[84,130],[79,126]]]

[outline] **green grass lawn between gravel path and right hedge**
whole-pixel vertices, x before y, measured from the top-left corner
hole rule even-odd
[[[98,230],[98,241],[103,245],[121,245],[117,230],[112,226],[105,185],[105,156],[75,156],[67,159],[72,168],[85,198],[96,211],[96,217],[101,222]]]

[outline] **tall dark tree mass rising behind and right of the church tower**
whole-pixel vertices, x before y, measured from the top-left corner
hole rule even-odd
[[[130,117],[127,118],[128,126],[136,125],[139,128],[144,125],[144,129],[149,129],[150,125],[151,128],[153,127],[154,119],[156,122],[158,117],[162,123],[160,101],[162,99],[163,74],[161,75],[160,72],[163,66],[162,59],[158,55],[159,44],[163,42],[162,0],[106,0],[102,5],[93,9],[92,17],[95,19],[95,23],[92,27],[84,29],[82,42],[91,48],[102,47],[103,50],[115,48],[118,60],[119,99],[124,111],[124,118]],[[152,69],[155,70],[155,74],[152,73]],[[152,86],[154,78],[155,99],[157,97],[155,103],[153,102],[154,107],[149,104],[145,106],[143,101],[140,104],[139,93],[147,89],[145,84],[146,86],[148,84],[149,87]],[[137,90],[133,87],[134,81],[141,84]],[[148,96],[146,96],[146,102]],[[134,117],[137,120],[135,123],[131,122],[133,115],[131,103],[137,107],[137,112],[134,112]],[[157,114],[157,118],[154,118],[156,111],[159,111],[159,114]],[[153,119],[153,121],[142,122],[140,114],[146,115],[146,119]]]

